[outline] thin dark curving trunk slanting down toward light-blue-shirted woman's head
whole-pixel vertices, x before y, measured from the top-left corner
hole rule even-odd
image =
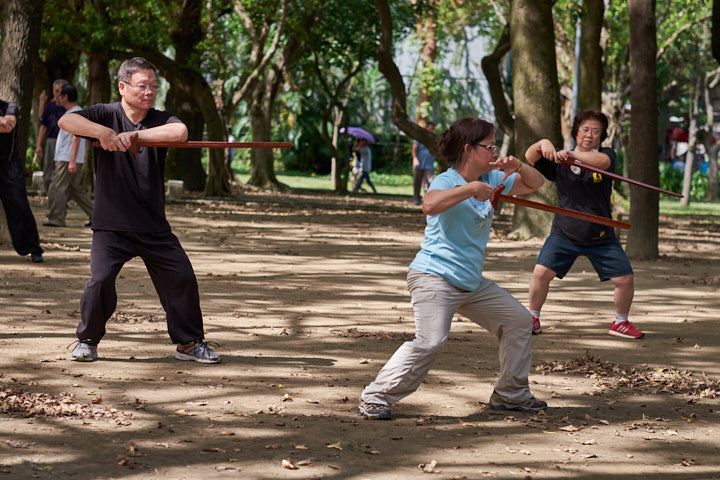
[[[400,130],[405,132],[407,136],[413,140],[417,140],[425,145],[432,153],[440,167],[445,170],[447,168],[447,160],[440,153],[440,146],[437,143],[435,135],[417,123],[410,120],[407,114],[407,91],[405,90],[405,82],[400,75],[393,60],[393,28],[392,16],[390,14],[390,6],[388,0],[375,0],[380,14],[381,36],[380,43],[377,47],[378,66],[387,82],[390,84],[390,92],[392,94],[392,110],[391,116],[393,123]]]

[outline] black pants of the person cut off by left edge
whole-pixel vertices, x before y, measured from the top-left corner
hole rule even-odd
[[[18,160],[0,158],[0,200],[13,247],[20,255],[42,253],[35,217],[25,188],[25,170]]]

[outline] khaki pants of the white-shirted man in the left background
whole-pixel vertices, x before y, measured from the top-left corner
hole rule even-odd
[[[68,165],[68,162],[55,162],[55,172],[48,190],[48,222],[54,225],[65,226],[68,198],[75,200],[92,221],[93,202],[80,184],[83,164],[77,164],[78,170],[75,174],[68,172]]]

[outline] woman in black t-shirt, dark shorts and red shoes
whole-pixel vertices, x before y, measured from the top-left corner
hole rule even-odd
[[[574,119],[571,134],[577,147],[572,156],[577,160],[609,172],[615,171],[615,151],[601,147],[607,138],[607,117],[595,110],[584,110]],[[540,152],[538,152],[540,150]],[[545,178],[555,182],[561,207],[612,218],[612,179],[597,173],[560,164],[568,158],[568,150],[559,150],[548,139],[540,140],[525,153]],[[555,215],[550,236],[545,240],[530,280],[529,307],[533,316],[533,333],[541,333],[542,309],[553,278],[563,278],[577,257],[584,255],[592,263],[601,281],[615,285],[615,321],[609,334],[623,338],[642,338],[645,334],[629,321],[630,306],[635,293],[633,270],[625,251],[611,227]]]

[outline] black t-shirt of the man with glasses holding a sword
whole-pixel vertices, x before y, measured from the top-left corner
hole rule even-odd
[[[120,102],[99,103],[76,112],[118,133],[182,123],[170,112],[151,108],[137,125]],[[166,233],[164,170],[166,148],[139,148],[137,155],[93,148],[95,211],[93,230]]]

